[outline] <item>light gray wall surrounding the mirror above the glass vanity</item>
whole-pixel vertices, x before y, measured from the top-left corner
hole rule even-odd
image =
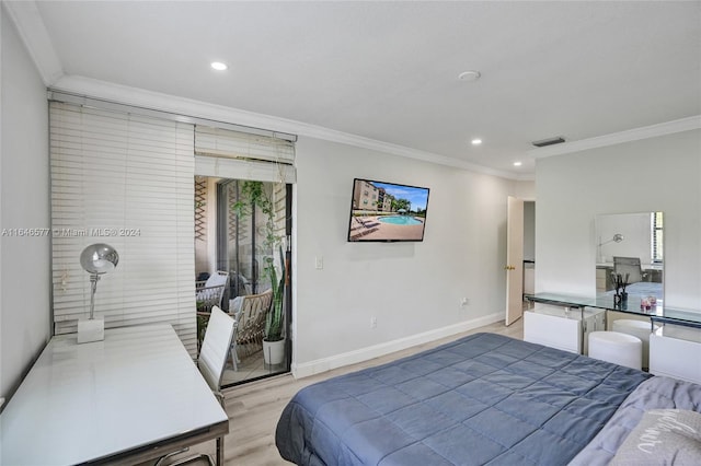
[[[537,292],[594,295],[595,217],[665,215],[665,305],[701,312],[701,130],[540,159]]]

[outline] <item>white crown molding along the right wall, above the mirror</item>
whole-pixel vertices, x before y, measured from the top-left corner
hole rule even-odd
[[[532,149],[527,152],[527,155],[533,159],[544,159],[555,155],[565,155],[573,152],[582,152],[589,149],[620,144],[623,142],[639,141],[641,139],[657,138],[659,136],[690,131],[693,129],[701,129],[701,115],[694,115],[657,125],[644,126],[642,128],[629,129],[627,131],[613,132],[611,135],[598,136],[596,138]]]

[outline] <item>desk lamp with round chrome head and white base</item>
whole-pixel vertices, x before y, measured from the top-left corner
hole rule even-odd
[[[78,342],[101,341],[105,338],[104,317],[95,318],[95,291],[100,276],[112,271],[119,261],[114,247],[104,243],[91,244],[80,253],[80,265],[90,273],[90,318],[78,321]]]

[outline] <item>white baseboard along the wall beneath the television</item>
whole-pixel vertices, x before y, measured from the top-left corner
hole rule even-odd
[[[331,371],[333,369],[343,368],[344,365],[356,364],[358,362],[368,361],[395,351],[401,351],[416,345],[423,345],[440,338],[450,337],[463,331],[472,330],[495,322],[504,321],[504,312],[489,314],[471,321],[461,322],[459,324],[449,325],[443,328],[424,331],[422,334],[412,335],[410,337],[399,338],[397,340],[387,341],[380,345],[361,348],[355,351],[348,351],[341,354],[334,354],[329,358],[318,359],[315,361],[296,363],[292,362],[291,371],[295,378],[308,377],[310,375]]]

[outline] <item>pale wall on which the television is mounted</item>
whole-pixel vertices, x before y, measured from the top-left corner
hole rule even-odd
[[[310,138],[297,143],[297,167],[298,374],[504,318],[516,182]],[[424,242],[348,243],[354,177],[430,188]]]

